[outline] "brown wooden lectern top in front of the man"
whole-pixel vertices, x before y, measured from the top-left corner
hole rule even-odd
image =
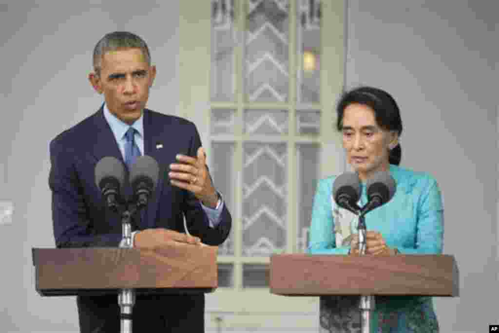
[[[33,248],[35,288],[41,296],[209,293],[218,287],[216,246],[161,249]]]

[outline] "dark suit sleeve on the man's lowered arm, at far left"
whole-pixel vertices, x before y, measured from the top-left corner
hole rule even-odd
[[[61,138],[50,143],[49,186],[57,247],[118,246],[120,233],[97,234],[93,222],[98,207],[85,200],[85,187],[75,165],[75,152]],[[87,189],[88,191],[88,189]],[[102,218],[105,218],[102,216]]]

